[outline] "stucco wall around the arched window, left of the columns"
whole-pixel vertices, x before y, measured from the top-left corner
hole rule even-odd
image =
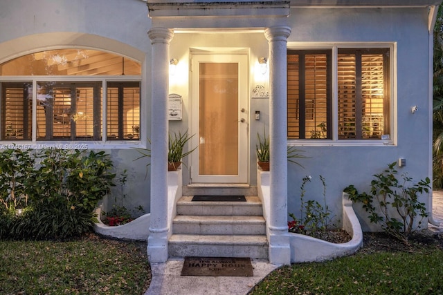
[[[150,113],[150,39],[147,30],[150,19],[147,6],[141,0],[6,0],[0,2],[0,63],[14,57],[55,48],[91,48],[105,50],[132,58],[142,64],[142,112]],[[142,141],[146,146],[150,135],[149,116],[142,116]],[[145,128],[143,128],[145,126]],[[90,142],[98,150],[106,151],[114,162],[117,178],[127,169],[127,182],[123,205],[132,210],[139,205],[150,212],[150,171],[145,178],[147,159],[134,159],[140,155],[134,145],[102,145]],[[109,196],[122,195],[116,180]],[[140,215],[141,212],[137,212]]]

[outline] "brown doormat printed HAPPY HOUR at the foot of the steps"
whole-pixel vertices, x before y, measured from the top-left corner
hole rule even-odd
[[[185,257],[181,276],[254,276],[251,258]]]

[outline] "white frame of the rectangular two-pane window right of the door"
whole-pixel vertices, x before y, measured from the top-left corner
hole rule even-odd
[[[390,88],[390,138],[381,140],[338,140],[338,48],[365,49],[389,48],[389,82]],[[327,42],[294,42],[289,41],[289,50],[332,50],[332,139],[287,139],[291,146],[397,146],[397,44],[395,42],[366,42],[366,43],[327,43]]]

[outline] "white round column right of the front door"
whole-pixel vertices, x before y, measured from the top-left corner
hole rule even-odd
[[[269,262],[291,263],[287,227],[287,38],[286,26],[267,28],[269,41]]]

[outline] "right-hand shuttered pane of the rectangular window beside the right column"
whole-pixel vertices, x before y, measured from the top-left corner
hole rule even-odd
[[[338,49],[338,139],[390,134],[389,48]]]

